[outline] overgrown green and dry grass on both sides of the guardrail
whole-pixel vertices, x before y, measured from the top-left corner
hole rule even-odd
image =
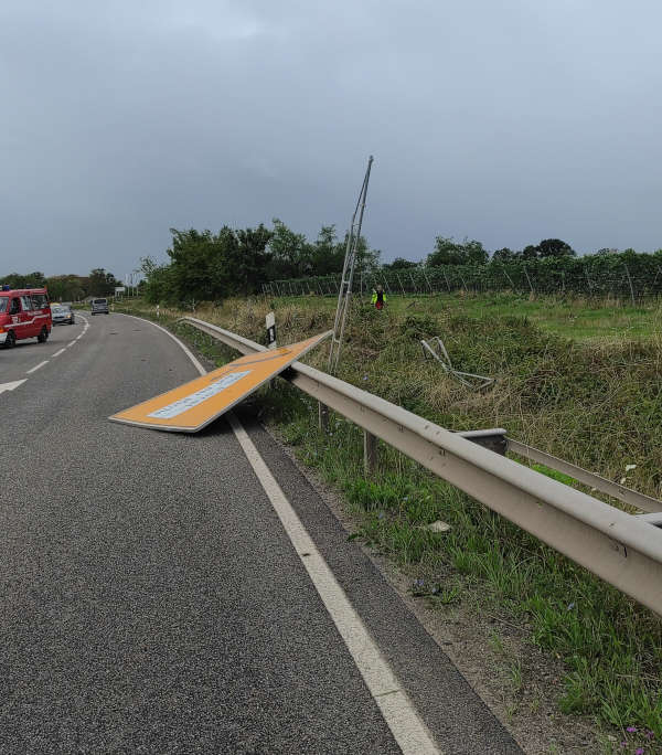
[[[264,342],[264,318],[274,308],[286,343],[331,327],[334,305],[319,297],[256,298],[200,308],[196,316]],[[131,308],[153,317],[140,302]],[[660,497],[661,313],[656,302],[634,309],[512,295],[389,297],[383,312],[356,300],[339,376],[450,429],[505,427],[514,438]],[[179,312],[161,315],[209,355],[231,355],[174,326]],[[458,369],[495,384],[470,391],[425,361],[419,339],[433,336]],[[322,350],[307,361],[323,369]],[[279,383],[260,406],[299,458],[343,493],[356,535],[398,564],[413,594],[448,617],[461,606],[516,627],[522,642],[562,662],[553,690],[560,711],[618,730],[628,743],[620,748],[619,740],[619,752],[659,752],[659,617],[395,451],[384,449],[377,479],[366,480],[360,432],[334,417],[320,435],[316,407],[295,389]],[[425,525],[436,520],[451,529],[430,533]],[[499,630],[494,645],[504,645]],[[525,692],[534,680],[519,656],[508,663],[513,716],[523,715],[535,704]]]

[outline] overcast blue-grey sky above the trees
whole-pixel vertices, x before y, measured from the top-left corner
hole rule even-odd
[[[1,0],[0,274],[118,277],[274,216],[490,249],[662,246],[662,6]]]

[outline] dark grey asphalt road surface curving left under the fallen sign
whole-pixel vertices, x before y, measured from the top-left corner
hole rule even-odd
[[[25,381],[0,392],[0,752],[401,752],[227,423],[108,422],[190,360],[147,322],[85,317],[0,351],[0,391]],[[439,751],[520,752],[239,417]]]

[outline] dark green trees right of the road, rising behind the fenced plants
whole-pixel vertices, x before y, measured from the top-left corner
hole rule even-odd
[[[141,290],[154,304],[220,301],[227,296],[259,293],[265,284],[275,280],[337,275],[342,272],[348,242],[348,234],[339,237],[333,225],[323,225],[317,238],[309,241],[279,219],[274,219],[273,227],[260,223],[254,228],[224,225],[217,233],[195,228],[170,232],[172,243],[166,264],[159,265],[151,257],[141,259]],[[437,236],[425,260],[397,257],[393,263],[381,264],[380,256],[380,251],[361,237],[355,273],[370,276],[378,270],[420,266],[572,258],[576,253],[559,238],[545,238],[522,251],[501,248],[490,255],[479,241]]]

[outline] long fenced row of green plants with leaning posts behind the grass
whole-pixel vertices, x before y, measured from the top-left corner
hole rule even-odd
[[[338,296],[341,275],[263,284],[274,296]],[[638,301],[662,295],[662,254],[591,255],[569,259],[535,259],[487,265],[446,265],[357,272],[353,291],[367,294],[382,286],[389,295],[453,291],[504,291],[580,295]]]

